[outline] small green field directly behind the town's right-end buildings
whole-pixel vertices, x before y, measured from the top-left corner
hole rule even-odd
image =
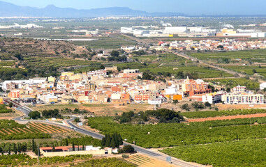
[[[251,79],[245,78],[237,78],[237,79],[212,79],[205,80],[207,82],[218,84],[221,86],[226,86],[226,88],[234,88],[235,86],[246,86],[248,90],[256,90],[260,88],[260,84],[256,81],[252,81]]]

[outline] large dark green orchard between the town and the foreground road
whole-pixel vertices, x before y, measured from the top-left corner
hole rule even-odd
[[[253,119],[253,118],[252,118]],[[216,122],[206,124],[205,122],[184,123],[158,123],[156,125],[131,125],[119,124],[111,117],[89,118],[88,125],[98,129],[102,134],[117,132],[122,138],[144,148],[163,148],[177,145],[192,145],[234,141],[246,138],[265,138],[266,125],[256,122],[256,125],[232,125],[232,121],[223,120],[221,126],[215,127]],[[265,122],[265,120],[261,120]],[[221,120],[217,120],[221,122]],[[261,124],[260,124],[261,123]],[[149,132],[149,133],[148,133]]]

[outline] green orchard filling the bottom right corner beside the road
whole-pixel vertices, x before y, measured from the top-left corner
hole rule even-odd
[[[172,157],[214,167],[266,166],[266,140],[246,139],[162,150]]]

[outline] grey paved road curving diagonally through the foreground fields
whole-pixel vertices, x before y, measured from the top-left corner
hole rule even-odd
[[[66,129],[72,129],[72,130],[75,130],[75,132],[79,132],[81,134],[85,134],[85,135],[88,135],[88,136],[91,136],[93,138],[97,138],[97,139],[100,139],[100,140],[104,137],[103,134],[98,134],[96,132],[91,132],[91,131],[89,131],[87,129],[83,129],[81,127],[78,127],[77,125],[74,125],[72,123],[73,119],[66,120],[67,124],[69,125],[69,126],[67,126],[67,125],[63,125],[63,124],[60,125],[59,123],[46,121],[46,120],[38,120],[38,121],[36,121],[36,120],[24,120],[23,118],[24,118],[24,116],[18,117],[18,118],[14,118],[14,120],[16,120],[17,122],[41,122],[41,123],[47,123],[47,124],[50,124],[50,125],[64,127]],[[71,127],[73,127],[73,128],[71,128]],[[159,160],[162,160],[162,161],[166,161],[166,157],[169,157],[167,154],[163,154],[161,152],[154,152],[152,150],[149,150],[149,149],[146,149],[146,148],[141,148],[141,147],[139,147],[137,145],[133,145],[131,143],[124,142],[124,145],[132,145],[133,148],[137,152],[140,152],[142,154],[146,154],[149,157],[153,157],[155,159],[159,159]],[[194,164],[191,164],[189,162],[176,159],[174,157],[172,157],[172,164],[176,165],[176,166],[181,166],[181,167],[198,167],[198,166],[201,166],[201,165],[194,165]]]

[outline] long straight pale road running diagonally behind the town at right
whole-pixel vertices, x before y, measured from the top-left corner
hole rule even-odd
[[[168,52],[170,52],[170,53],[172,53],[172,54],[175,54],[175,55],[177,55],[177,56],[180,56],[180,57],[183,57],[183,58],[189,59],[189,60],[196,61],[196,62],[198,62],[198,63],[200,63],[200,64],[207,65],[207,66],[209,66],[209,67],[212,67],[212,68],[214,68],[214,69],[216,69],[216,70],[220,70],[220,71],[226,72],[226,73],[228,73],[228,74],[239,75],[239,77],[249,77],[249,79],[251,79],[251,80],[255,80],[255,79],[256,79],[256,78],[254,78],[254,77],[250,77],[248,74],[242,74],[242,73],[240,73],[240,72],[231,71],[231,70],[228,70],[228,69],[226,69],[226,68],[219,67],[218,65],[213,65],[213,64],[211,64],[211,63],[207,63],[207,62],[205,62],[205,61],[199,60],[198,58],[195,58],[195,57],[193,57],[193,56],[189,56],[189,55],[187,55],[187,54],[177,53],[177,52],[175,52],[175,51],[171,51],[171,50],[168,50]],[[260,83],[264,83],[265,81],[263,81],[262,79],[258,79],[258,82],[260,82]]]

